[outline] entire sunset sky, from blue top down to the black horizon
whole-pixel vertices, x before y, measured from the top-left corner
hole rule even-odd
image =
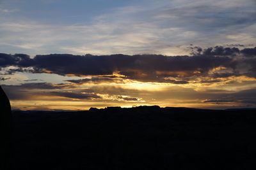
[[[13,110],[256,108],[254,0],[0,0]]]

